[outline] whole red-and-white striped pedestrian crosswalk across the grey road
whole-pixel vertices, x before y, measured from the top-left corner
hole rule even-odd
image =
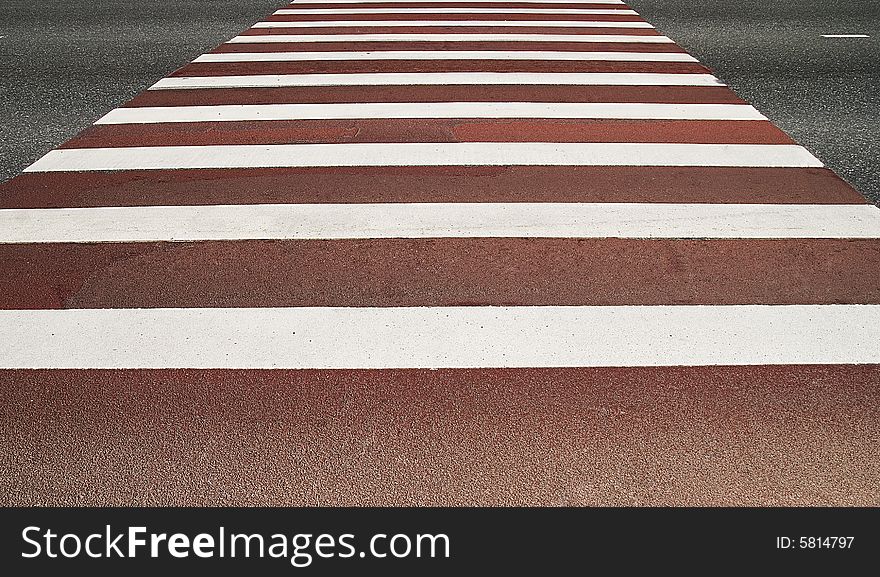
[[[0,271],[7,503],[878,504],[880,210],[617,0],[293,2]]]

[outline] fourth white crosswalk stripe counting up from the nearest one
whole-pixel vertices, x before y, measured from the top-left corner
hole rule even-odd
[[[117,108],[95,124],[363,118],[626,118],[766,120],[747,104],[367,102]]]

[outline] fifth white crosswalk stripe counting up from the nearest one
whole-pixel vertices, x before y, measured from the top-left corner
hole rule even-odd
[[[377,72],[364,74],[253,74],[163,78],[150,90],[187,88],[272,88],[282,86],[724,86],[711,74],[599,72]]]

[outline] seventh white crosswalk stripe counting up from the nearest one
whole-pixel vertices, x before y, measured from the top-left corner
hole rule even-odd
[[[666,36],[621,34],[269,34],[236,36],[227,44],[301,42],[585,42],[671,44]]]

